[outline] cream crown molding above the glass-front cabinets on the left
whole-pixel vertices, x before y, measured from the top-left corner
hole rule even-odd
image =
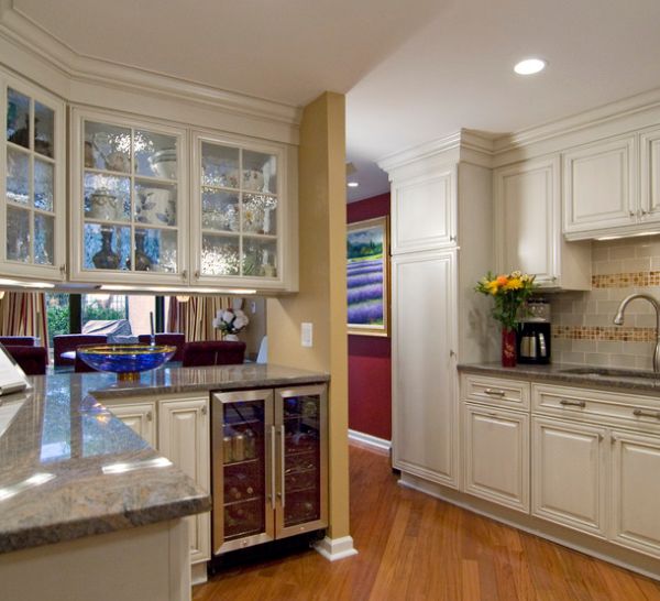
[[[143,94],[147,91],[206,105],[232,116],[274,121],[296,129],[300,123],[302,111],[299,107],[79,54],[15,9],[13,0],[0,0],[0,36],[72,80]]]

